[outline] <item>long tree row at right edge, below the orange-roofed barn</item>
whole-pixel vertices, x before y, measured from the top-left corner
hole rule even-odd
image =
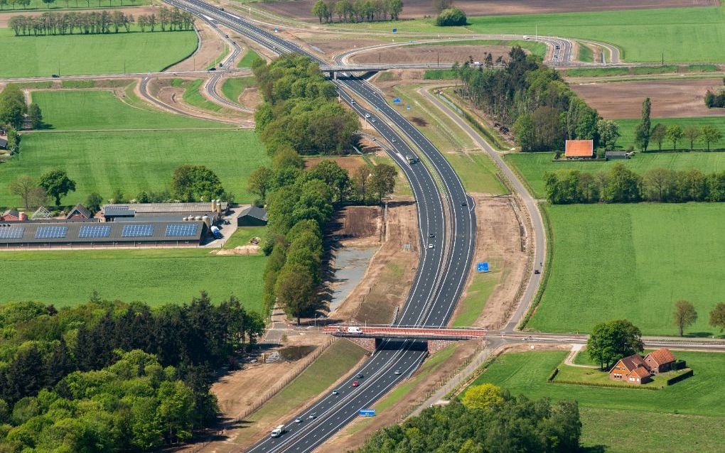
[[[608,172],[557,170],[544,173],[551,204],[725,201],[725,172],[654,168],[638,175],[617,163]]]

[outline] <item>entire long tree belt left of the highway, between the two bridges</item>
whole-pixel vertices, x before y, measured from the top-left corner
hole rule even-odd
[[[258,168],[247,181],[269,219],[265,309],[277,302],[299,322],[318,304],[323,232],[336,205],[381,201],[392,193],[397,170],[361,165],[351,177],[332,160],[305,170],[300,154],[349,150],[360,122],[341,107],[334,85],[309,58],[286,55],[253,67],[265,98],[255,114],[257,128],[272,156],[272,167]]]

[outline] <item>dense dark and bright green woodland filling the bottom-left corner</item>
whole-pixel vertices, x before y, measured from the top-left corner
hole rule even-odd
[[[256,341],[231,297],[150,308],[0,308],[0,451],[135,452],[189,439],[218,412],[211,370]]]

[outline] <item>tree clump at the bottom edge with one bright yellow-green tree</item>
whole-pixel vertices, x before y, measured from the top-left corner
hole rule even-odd
[[[469,388],[463,402],[428,407],[376,432],[356,452],[564,453],[579,451],[580,437],[576,402],[529,400],[484,384]]]

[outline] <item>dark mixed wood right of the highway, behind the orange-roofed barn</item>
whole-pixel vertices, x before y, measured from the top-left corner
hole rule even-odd
[[[539,58],[514,46],[507,61],[499,57],[494,62],[487,54],[481,63],[453,66],[463,82],[458,92],[504,133],[512,131],[522,151],[563,149],[566,139],[593,140],[599,146],[597,111]]]

